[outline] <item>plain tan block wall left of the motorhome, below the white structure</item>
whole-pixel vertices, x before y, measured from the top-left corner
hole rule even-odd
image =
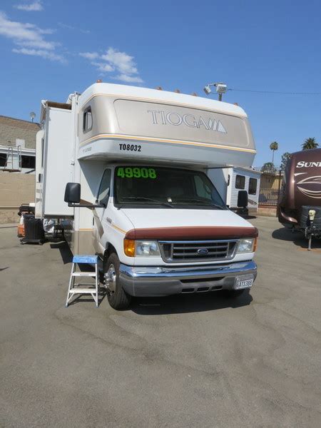
[[[34,174],[0,171],[0,224],[19,223],[19,206],[34,202]]]

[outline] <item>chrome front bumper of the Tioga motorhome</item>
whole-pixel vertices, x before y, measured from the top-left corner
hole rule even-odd
[[[149,297],[181,292],[233,290],[235,277],[255,277],[256,263],[251,261],[197,267],[120,265],[119,280],[131,296]]]

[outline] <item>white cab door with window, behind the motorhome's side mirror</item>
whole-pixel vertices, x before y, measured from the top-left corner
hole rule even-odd
[[[103,233],[106,232],[106,210],[108,210],[109,196],[111,195],[111,168],[106,168],[98,188],[97,203],[104,206],[93,209],[93,248],[96,253],[103,253]]]

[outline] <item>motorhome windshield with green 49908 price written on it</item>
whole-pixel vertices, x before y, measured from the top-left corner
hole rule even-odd
[[[226,205],[205,173],[161,166],[118,166],[115,170],[115,205],[161,205],[165,208],[226,210]]]

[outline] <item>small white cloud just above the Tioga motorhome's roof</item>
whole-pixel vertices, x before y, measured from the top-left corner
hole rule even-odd
[[[101,73],[111,73],[115,71],[117,73],[116,76],[111,77],[116,80],[128,83],[143,82],[143,79],[139,76],[133,56],[126,54],[126,52],[120,52],[110,47],[105,54],[98,54],[98,52],[81,52],[79,55],[91,61],[91,65],[95,66]]]

